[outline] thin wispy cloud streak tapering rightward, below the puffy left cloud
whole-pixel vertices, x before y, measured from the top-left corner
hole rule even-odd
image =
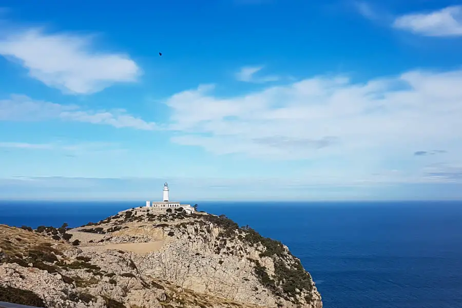
[[[124,109],[86,110],[76,105],[61,105],[32,100],[25,95],[11,95],[0,100],[0,121],[39,121],[60,119],[64,121],[87,122],[111,125],[117,128],[129,127],[142,130],[156,128],[153,122],[133,117]]]

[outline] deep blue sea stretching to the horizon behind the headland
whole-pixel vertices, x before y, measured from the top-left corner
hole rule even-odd
[[[0,201],[0,224],[75,227],[145,202]],[[190,202],[280,240],[325,308],[462,308],[462,202]]]

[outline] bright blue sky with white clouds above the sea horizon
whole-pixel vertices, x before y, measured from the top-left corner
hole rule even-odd
[[[462,199],[459,1],[0,5],[0,199]]]

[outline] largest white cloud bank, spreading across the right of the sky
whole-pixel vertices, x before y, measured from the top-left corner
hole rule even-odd
[[[310,160],[303,176],[367,179],[405,164],[399,169],[420,177],[430,159],[460,160],[460,84],[460,70],[415,70],[364,83],[315,76],[230,98],[199,87],[165,103],[178,144],[259,160]],[[447,153],[416,158],[422,149]]]

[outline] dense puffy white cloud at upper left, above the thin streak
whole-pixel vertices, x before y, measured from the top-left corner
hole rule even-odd
[[[29,75],[65,93],[90,94],[114,83],[134,82],[140,68],[128,55],[95,51],[89,36],[47,34],[41,29],[4,29],[0,54]]]

